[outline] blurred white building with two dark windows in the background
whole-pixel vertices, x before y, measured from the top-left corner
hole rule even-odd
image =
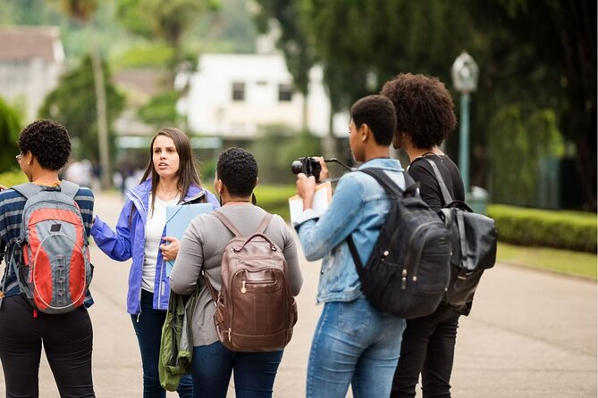
[[[184,79],[180,76],[181,79]],[[304,98],[295,91],[282,54],[203,54],[198,70],[179,86],[187,94],[177,104],[190,131],[209,136],[253,138],[264,126],[302,129]],[[324,137],[329,130],[330,101],[321,68],[310,72],[307,129]],[[336,114],[333,132],[347,137],[349,115]]]

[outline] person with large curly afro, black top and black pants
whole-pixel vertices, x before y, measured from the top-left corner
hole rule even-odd
[[[422,199],[435,211],[445,204],[434,169],[425,161],[428,159],[438,166],[451,197],[465,200],[459,169],[440,149],[457,125],[451,94],[442,81],[401,73],[384,84],[381,94],[391,99],[397,112],[392,146],[408,153],[411,163],[408,173],[419,182]],[[432,314],[407,320],[400,360],[392,381],[392,397],[415,397],[420,373],[424,398],[451,397],[459,316],[467,315],[470,305],[455,309],[441,303]]]

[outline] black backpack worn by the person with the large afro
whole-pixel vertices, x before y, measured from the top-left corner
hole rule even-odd
[[[493,219],[476,214],[467,203],[453,201],[436,163],[423,159],[434,169],[444,201],[439,212],[451,231],[451,282],[442,303],[459,310],[473,300],[484,269],[496,262],[496,227]]]

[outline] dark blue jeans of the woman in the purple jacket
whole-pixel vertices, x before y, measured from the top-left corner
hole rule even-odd
[[[141,290],[141,313],[131,315],[133,328],[139,342],[141,363],[143,365],[143,398],[165,398],[166,391],[160,386],[158,361],[160,355],[160,338],[162,326],[166,320],[166,311],[152,308],[153,295]],[[193,382],[190,375],[181,377],[177,390],[181,398],[193,396]]]

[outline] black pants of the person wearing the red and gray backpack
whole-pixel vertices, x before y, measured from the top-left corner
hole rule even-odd
[[[33,309],[22,295],[4,297],[0,310],[0,361],[6,398],[36,398],[41,347],[62,398],[95,397],[91,377],[93,330],[88,311],[50,315]]]

